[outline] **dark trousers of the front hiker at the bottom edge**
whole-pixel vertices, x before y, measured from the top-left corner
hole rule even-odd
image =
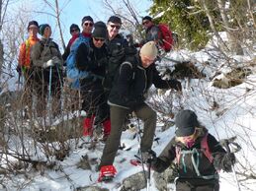
[[[204,184],[191,184],[188,181],[177,180],[176,181],[176,191],[218,191],[219,184],[218,179],[213,179],[211,181],[206,180],[207,182]],[[195,179],[195,182],[197,180]]]

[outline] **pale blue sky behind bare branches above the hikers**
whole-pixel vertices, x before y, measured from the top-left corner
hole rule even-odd
[[[48,0],[52,5],[54,5],[54,0]],[[118,0],[108,0],[111,2],[111,5],[115,8],[116,11],[121,12],[125,6],[123,1]],[[129,0],[131,6],[138,13],[140,18],[145,15],[148,15],[147,10],[152,5],[150,0]],[[34,0],[20,0],[17,1],[17,5],[23,5],[29,10],[35,10],[39,12],[52,13],[48,6],[45,6],[43,0],[34,1]],[[104,5],[104,0],[59,0],[59,7],[62,9],[60,15],[61,26],[64,32],[65,43],[68,42],[70,38],[69,26],[71,24],[77,24],[81,28],[81,20],[84,16],[90,15],[95,22],[103,21],[107,22],[109,17],[113,15],[113,12],[110,9],[107,9]],[[16,8],[17,9],[17,8]],[[122,11],[123,13],[123,11]],[[52,36],[56,41],[59,40],[58,31],[56,30],[56,20],[49,15],[42,13],[32,13],[32,19],[37,20],[39,24],[48,23],[52,28]],[[139,18],[139,19],[140,19]]]

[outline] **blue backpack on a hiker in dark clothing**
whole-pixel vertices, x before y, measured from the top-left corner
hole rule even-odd
[[[76,67],[76,53],[81,43],[86,43],[89,46],[89,37],[83,36],[81,33],[75,39],[70,47],[70,53],[66,59],[66,77],[70,83],[71,89],[80,89],[79,79],[88,77],[89,73],[86,71],[79,71]]]

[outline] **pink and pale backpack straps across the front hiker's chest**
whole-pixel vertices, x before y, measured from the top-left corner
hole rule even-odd
[[[199,155],[200,152],[203,153],[207,159],[210,160],[211,163],[213,163],[213,155],[210,151],[209,145],[208,145],[208,133],[204,136],[204,138],[201,140],[201,149],[199,151],[199,149],[194,148],[191,151],[182,151],[180,147],[175,147],[175,152],[176,152],[176,160],[177,163],[179,164],[180,161],[182,162],[182,164],[184,165],[185,169],[186,169],[186,164],[184,162],[184,157],[187,154],[192,154],[194,155]],[[198,165],[199,165],[199,161],[195,161],[195,159],[192,157],[192,163],[194,165],[194,168],[196,170],[196,173],[198,176],[204,178],[204,179],[213,179],[215,178],[215,174],[213,175],[202,175],[199,171]]]

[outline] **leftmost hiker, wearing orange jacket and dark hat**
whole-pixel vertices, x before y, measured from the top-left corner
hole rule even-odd
[[[32,111],[33,68],[31,60],[31,49],[33,45],[40,41],[40,38],[38,37],[39,24],[37,21],[29,22],[28,32],[28,39],[26,39],[20,46],[19,62],[16,70],[19,73],[19,76],[23,75],[25,79],[25,88],[22,101],[25,103],[25,105],[28,105],[29,110]]]

